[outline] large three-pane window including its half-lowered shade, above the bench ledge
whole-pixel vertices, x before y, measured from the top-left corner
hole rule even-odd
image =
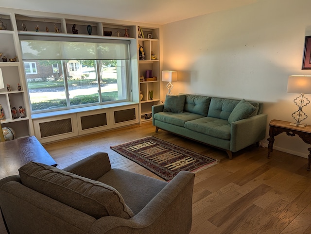
[[[21,46],[32,113],[130,99],[127,44],[22,39]]]

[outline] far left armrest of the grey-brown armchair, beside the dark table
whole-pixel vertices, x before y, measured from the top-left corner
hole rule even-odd
[[[97,180],[111,170],[110,160],[107,153],[96,152],[63,170],[73,174]]]

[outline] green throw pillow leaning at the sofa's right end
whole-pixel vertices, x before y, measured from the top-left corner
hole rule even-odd
[[[233,111],[231,112],[228,118],[228,122],[232,123],[232,122],[244,119],[244,118],[255,116],[257,115],[258,109],[259,109],[259,104],[257,105],[257,107],[255,107],[248,101],[242,99],[236,105],[236,107],[234,107]]]

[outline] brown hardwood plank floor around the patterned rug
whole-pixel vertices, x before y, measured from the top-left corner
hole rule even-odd
[[[308,159],[255,145],[233,154],[159,130],[151,122],[82,136],[44,148],[59,168],[97,151],[109,154],[112,167],[161,179],[110,149],[153,135],[211,158],[214,167],[195,174],[191,234],[311,234],[311,172]],[[308,147],[306,145],[306,147]],[[6,233],[0,220],[0,234]]]

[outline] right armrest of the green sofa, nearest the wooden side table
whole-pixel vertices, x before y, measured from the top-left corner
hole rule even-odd
[[[259,114],[231,123],[230,151],[236,152],[266,136],[267,114]]]

